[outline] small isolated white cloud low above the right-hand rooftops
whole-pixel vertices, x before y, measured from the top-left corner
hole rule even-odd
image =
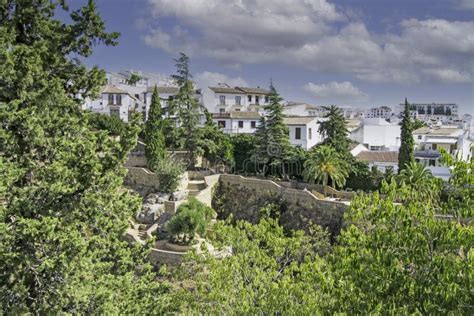
[[[309,82],[303,90],[325,100],[366,101],[369,98],[367,93],[362,92],[349,81],[331,81],[320,85]]]

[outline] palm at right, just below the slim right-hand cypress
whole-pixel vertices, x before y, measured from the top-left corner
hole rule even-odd
[[[413,191],[421,199],[437,200],[439,197],[439,181],[429,169],[417,162],[410,162],[400,172],[398,182],[415,189]]]

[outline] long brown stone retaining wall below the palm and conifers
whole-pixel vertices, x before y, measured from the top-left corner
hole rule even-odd
[[[253,223],[259,221],[260,208],[275,203],[280,208],[280,224],[286,229],[308,230],[311,224],[326,227],[336,236],[343,224],[348,203],[318,199],[309,191],[283,187],[273,181],[221,175],[212,206],[218,218],[233,215]]]

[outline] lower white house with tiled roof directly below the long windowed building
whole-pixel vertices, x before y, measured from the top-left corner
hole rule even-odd
[[[257,130],[260,113],[258,112],[223,112],[212,113],[212,120],[226,134],[253,134]]]

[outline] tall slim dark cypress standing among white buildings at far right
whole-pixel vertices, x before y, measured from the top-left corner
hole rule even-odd
[[[413,140],[413,123],[410,115],[410,104],[405,98],[405,109],[403,111],[403,118],[401,123],[401,137],[400,137],[400,151],[398,154],[398,173],[413,161],[413,151],[415,142]]]

